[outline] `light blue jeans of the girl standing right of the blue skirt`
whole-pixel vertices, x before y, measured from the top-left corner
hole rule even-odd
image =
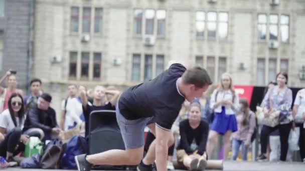
[[[236,160],[238,152],[239,152],[239,147],[241,145],[241,156],[244,161],[248,160],[247,154],[248,154],[248,146],[245,146],[245,140],[238,140],[233,138],[232,140],[232,160]]]

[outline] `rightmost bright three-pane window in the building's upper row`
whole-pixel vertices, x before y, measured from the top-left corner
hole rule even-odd
[[[277,15],[277,14],[258,14],[257,17],[257,29],[258,38],[265,40],[269,38],[270,40],[278,40],[280,32],[280,40],[282,42],[289,41],[289,16],[288,15]],[[267,37],[267,31],[269,32],[269,37]]]

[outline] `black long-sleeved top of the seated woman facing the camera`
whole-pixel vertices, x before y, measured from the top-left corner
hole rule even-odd
[[[191,145],[195,140],[198,154],[202,155],[205,152],[209,134],[208,122],[201,120],[199,126],[193,129],[189,119],[185,119],[180,122],[179,130],[181,138],[177,149],[184,149],[188,154],[192,154],[194,149],[191,148]]]

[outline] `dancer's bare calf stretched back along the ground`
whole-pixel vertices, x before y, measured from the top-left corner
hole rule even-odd
[[[126,150],[111,149],[97,154],[87,155],[86,160],[95,165],[137,165],[140,163],[144,146],[127,148]]]

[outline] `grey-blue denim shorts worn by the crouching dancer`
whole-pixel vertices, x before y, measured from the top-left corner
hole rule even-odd
[[[148,123],[154,122],[154,116],[128,120],[120,113],[118,104],[116,105],[115,113],[125,148],[138,148],[143,146],[144,128]]]

